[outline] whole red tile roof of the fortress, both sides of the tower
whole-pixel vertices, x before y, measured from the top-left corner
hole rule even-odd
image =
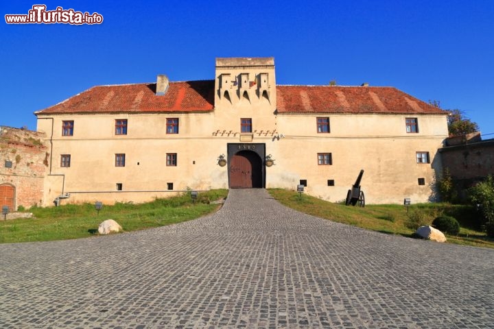
[[[156,84],[95,86],[36,114],[208,112],[214,88],[214,80],[170,82],[156,96]],[[277,112],[446,114],[397,88],[368,86],[277,86]]]

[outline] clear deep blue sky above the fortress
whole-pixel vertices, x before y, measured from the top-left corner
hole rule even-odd
[[[101,25],[5,23],[32,5]],[[494,138],[494,1],[2,1],[0,125],[91,86],[214,79],[217,57],[274,57],[277,84],[394,86]],[[492,134],[492,135],[488,135]]]

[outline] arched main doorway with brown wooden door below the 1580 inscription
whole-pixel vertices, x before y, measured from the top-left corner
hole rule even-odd
[[[238,151],[231,157],[230,188],[262,188],[263,161],[254,151]]]

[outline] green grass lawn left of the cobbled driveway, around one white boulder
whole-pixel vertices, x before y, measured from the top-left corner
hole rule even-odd
[[[156,199],[146,204],[103,206],[97,214],[93,204],[31,208],[34,218],[0,221],[0,243],[79,239],[97,235],[99,223],[115,219],[125,232],[166,226],[196,219],[218,208],[210,201],[224,199],[227,190],[199,193],[196,204],[188,194]]]

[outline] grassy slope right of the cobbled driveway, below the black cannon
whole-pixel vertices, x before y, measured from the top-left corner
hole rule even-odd
[[[269,193],[281,204],[309,215],[337,221],[339,223],[365,228],[386,234],[399,234],[411,237],[415,232],[405,226],[408,220],[407,208],[397,204],[367,205],[365,208],[358,206],[345,206],[326,202],[309,195],[298,195],[294,191],[279,188],[268,190]],[[460,223],[458,236],[446,235],[449,243],[460,245],[473,245],[476,247],[494,248],[494,240],[489,239],[478,228],[473,209],[468,206],[451,204],[416,204],[409,208],[410,213],[421,211],[426,215],[425,225],[430,225],[435,217],[444,213],[455,217]]]

